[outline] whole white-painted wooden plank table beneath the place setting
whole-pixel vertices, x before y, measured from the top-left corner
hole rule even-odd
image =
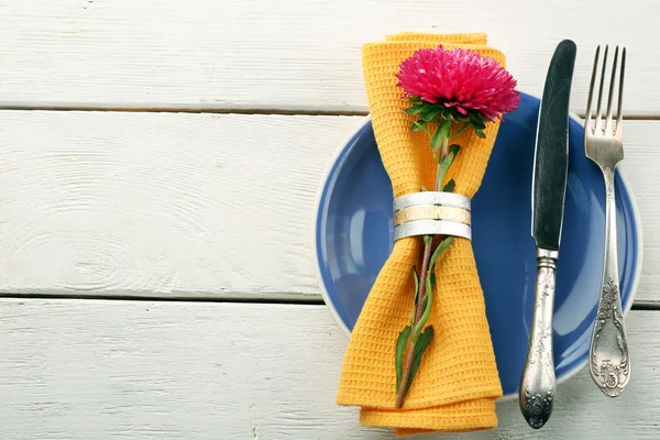
[[[573,38],[578,113],[596,44],[626,44],[645,227],[627,392],[583,371],[541,431],[510,402],[444,438],[657,439],[660,2],[539,3],[0,0],[0,438],[392,439],[334,405],[311,218],[367,111],[361,45],[431,30],[486,32],[536,95]]]

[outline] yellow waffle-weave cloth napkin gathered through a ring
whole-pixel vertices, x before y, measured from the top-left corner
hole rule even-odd
[[[470,48],[505,65],[504,54],[486,46],[484,34],[388,36],[363,47],[364,81],[378,150],[392,179],[394,197],[435,187],[436,164],[429,139],[413,132],[414,117],[396,86],[399,64],[424,47]],[[488,123],[486,139],[466,130],[446,183],[470,198],[479,189],[499,123]],[[463,432],[495,428],[495,399],[502,396],[472,243],[455,238],[436,264],[437,287],[429,319],[435,336],[421,360],[402,409],[395,408],[394,352],[407,326],[415,288],[413,267],[421,262],[421,239],[395,243],[381,271],[345,353],[337,402],[362,407],[364,425],[394,427],[397,436]]]

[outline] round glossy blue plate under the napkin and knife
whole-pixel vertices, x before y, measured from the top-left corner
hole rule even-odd
[[[518,392],[527,353],[536,278],[530,235],[531,173],[539,100],[521,94],[502,123],[481,189],[472,202],[476,266],[486,300],[505,397]],[[641,229],[630,189],[616,176],[618,263],[629,310],[641,267]],[[393,246],[393,195],[371,121],[339,153],[321,188],[316,254],[321,290],[351,331]],[[570,164],[554,300],[558,381],[586,363],[603,266],[605,188],[584,156],[584,128],[570,123]]]

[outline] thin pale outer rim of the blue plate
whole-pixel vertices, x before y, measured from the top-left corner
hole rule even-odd
[[[531,98],[535,98],[539,102],[541,100],[536,95],[527,94],[527,92],[521,92],[521,94],[525,94]],[[569,117],[571,119],[575,120],[578,123],[580,123],[581,127],[584,128],[584,119],[580,118],[573,111],[569,112]],[[326,284],[323,283],[323,274],[321,273],[321,267],[319,264],[319,248],[318,248],[318,240],[317,240],[317,238],[318,238],[317,237],[318,235],[318,220],[319,220],[319,216],[320,216],[321,209],[322,209],[321,199],[323,197],[323,193],[326,191],[326,187],[328,185],[328,179],[330,177],[330,173],[332,173],[332,169],[337,165],[338,161],[341,158],[344,151],[349,147],[351,140],[353,140],[364,129],[364,127],[371,121],[371,119],[372,119],[371,113],[361,118],[360,119],[361,122],[359,123],[359,125],[342,141],[339,148],[337,148],[337,151],[332,155],[330,165],[324,170],[323,177],[321,179],[321,184],[320,184],[319,188],[317,189],[317,194],[316,194],[316,198],[315,198],[314,219],[312,219],[314,228],[312,228],[312,246],[311,246],[312,249],[311,249],[311,251],[312,251],[312,256],[314,256],[314,263],[315,263],[314,266],[315,266],[315,272],[316,272],[316,276],[317,276],[317,282],[319,285],[319,289],[321,290],[321,297],[322,297],[323,302],[326,304],[327,308],[330,310],[332,317],[334,318],[334,321],[339,324],[339,327],[344,331],[344,333],[349,338],[351,337],[352,332],[348,328],[348,326],[343,322],[343,320],[341,319],[341,316],[337,311],[337,308],[334,307],[334,304],[330,299],[330,295],[328,294],[328,290],[326,289]],[[630,199],[630,206],[632,207],[632,217],[635,219],[635,228],[637,231],[637,255],[636,255],[636,262],[635,262],[635,264],[636,264],[635,273],[632,274],[632,286],[630,288],[630,300],[628,301],[628,304],[626,305],[625,310],[624,310],[624,317],[627,318],[629,315],[629,311],[632,307],[632,304],[635,302],[635,296],[637,295],[637,289],[639,287],[639,278],[641,276],[641,265],[642,265],[642,261],[644,261],[644,237],[642,237],[642,229],[641,229],[641,218],[639,216],[639,206],[637,205],[637,198],[635,197],[635,193],[630,188],[629,180],[626,177],[625,169],[626,169],[625,164],[619,164],[617,166],[619,178],[622,179],[622,183],[624,184],[624,187],[626,188],[626,193],[628,194],[628,198]],[[585,359],[584,361],[578,363],[572,370],[570,370],[562,377],[557,380],[557,385],[563,384],[564,382],[569,381],[571,377],[575,376],[578,373],[580,373],[584,369],[584,366],[587,364],[587,362],[588,362],[588,359]],[[518,393],[510,393],[510,394],[503,395],[502,397],[496,399],[496,402],[497,403],[507,402],[507,400],[514,400],[517,398],[518,398]]]

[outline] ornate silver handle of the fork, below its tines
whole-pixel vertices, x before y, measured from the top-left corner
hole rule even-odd
[[[605,261],[601,300],[590,348],[590,372],[603,393],[616,397],[630,378],[630,358],[618,279],[614,169],[606,167],[603,175],[606,194]]]

